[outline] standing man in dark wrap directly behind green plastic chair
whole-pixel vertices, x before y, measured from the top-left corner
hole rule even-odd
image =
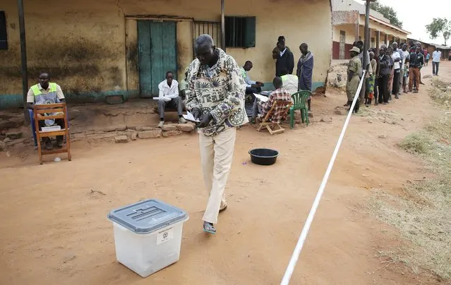
[[[296,70],[296,75],[299,79],[298,89],[312,91],[312,77],[313,77],[313,54],[308,51],[308,45],[302,43],[299,46],[301,51],[301,57],[298,61],[298,68]],[[311,97],[307,100],[308,111],[311,111]]]

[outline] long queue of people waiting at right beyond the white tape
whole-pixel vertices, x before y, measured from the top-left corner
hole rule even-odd
[[[426,66],[428,51],[421,48],[420,42],[409,42],[407,44],[394,42],[390,46],[383,44],[379,51],[371,48],[368,53],[366,68],[363,68],[363,42],[354,42],[350,49],[351,60],[349,61],[347,75],[347,103],[344,107],[351,106],[352,100],[359,87],[359,81],[362,77],[362,70],[368,71],[365,75],[365,82],[362,85],[363,91],[357,99],[356,107],[353,111],[359,111],[360,104],[370,107],[373,99],[374,104],[389,104],[392,97],[399,99],[404,93],[418,93],[421,82],[421,68]],[[433,75],[438,75],[438,66],[440,64],[440,51],[433,52]],[[363,102],[363,98],[365,101]]]

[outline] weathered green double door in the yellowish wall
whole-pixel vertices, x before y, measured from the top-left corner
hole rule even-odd
[[[176,23],[138,20],[140,97],[158,96],[167,71],[177,76]]]

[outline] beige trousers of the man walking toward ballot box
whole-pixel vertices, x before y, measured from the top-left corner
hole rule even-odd
[[[221,203],[225,203],[224,188],[234,154],[236,128],[214,136],[199,134],[200,160],[205,187],[210,193],[203,221],[217,224]]]

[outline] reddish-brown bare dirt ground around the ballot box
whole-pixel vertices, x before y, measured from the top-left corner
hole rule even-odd
[[[451,64],[440,68],[451,80]],[[437,111],[430,80],[419,94],[352,117],[291,284],[445,283],[380,256],[406,243],[367,209],[374,190],[401,192],[407,180],[431,175],[396,145]],[[343,92],[327,90],[313,98],[310,126],[281,135],[238,131],[229,207],[215,236],[202,231],[208,193],[196,134],[125,145],[79,140],[71,162],[50,156],[43,165],[32,147],[0,152],[0,284],[279,284],[344,123],[335,111],[345,101]],[[279,150],[277,164],[251,164],[255,147]],[[189,220],[179,262],[143,279],[116,261],[107,214],[147,198],[181,207]]]

